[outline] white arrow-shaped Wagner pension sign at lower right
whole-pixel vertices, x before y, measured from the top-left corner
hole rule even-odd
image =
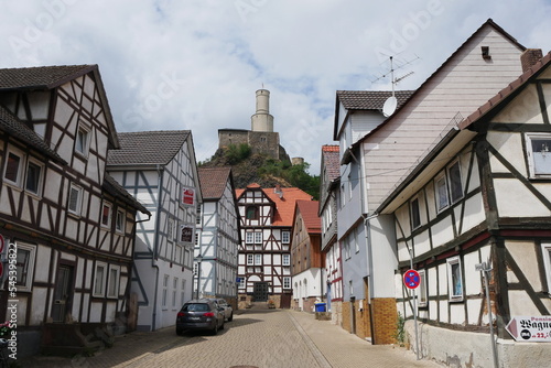
[[[551,343],[551,315],[514,316],[505,328],[517,342]]]

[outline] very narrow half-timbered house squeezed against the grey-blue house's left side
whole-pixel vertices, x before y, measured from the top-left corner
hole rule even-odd
[[[343,321],[343,269],[341,245],[337,241],[337,198],[339,195],[338,145],[322,145],[320,177],[320,209],[322,220],[322,257],[325,261],[323,274],[327,284],[325,300],[331,321],[341,325]]]

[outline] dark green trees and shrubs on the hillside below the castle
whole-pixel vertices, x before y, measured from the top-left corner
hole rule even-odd
[[[248,144],[230,144],[218,149],[199,167],[231,166],[236,188],[258,183],[262,187],[299,187],[318,199],[320,176],[310,175],[309,163],[292,165],[290,161],[274,160],[266,154],[252,153]]]

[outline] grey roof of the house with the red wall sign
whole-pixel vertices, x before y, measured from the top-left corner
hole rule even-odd
[[[120,149],[109,150],[107,165],[166,165],[190,134],[190,130],[118,133]]]

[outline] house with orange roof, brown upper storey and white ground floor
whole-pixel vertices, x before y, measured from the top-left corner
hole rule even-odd
[[[291,232],[291,275],[294,309],[314,312],[315,303],[323,302],[325,266],[321,249],[321,219],[317,201],[296,201]]]

